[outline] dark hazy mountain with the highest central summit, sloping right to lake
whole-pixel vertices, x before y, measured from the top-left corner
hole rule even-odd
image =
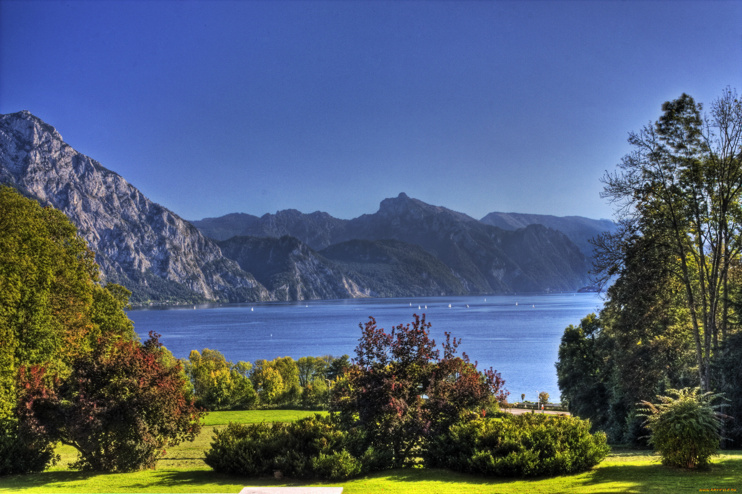
[[[346,235],[416,243],[471,293],[574,290],[588,279],[584,254],[560,231],[542,225],[506,231],[404,193],[350,220]]]

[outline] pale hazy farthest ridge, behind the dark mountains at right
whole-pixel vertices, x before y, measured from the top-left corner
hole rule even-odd
[[[498,226],[503,230],[517,230],[528,225],[544,225],[559,230],[580,248],[582,254],[593,256],[590,240],[605,231],[613,233],[616,224],[611,220],[592,220],[582,216],[552,216],[551,214],[499,213],[487,214],[482,220],[487,225]]]

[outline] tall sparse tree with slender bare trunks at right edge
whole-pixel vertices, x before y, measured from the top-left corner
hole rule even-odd
[[[708,115],[684,94],[654,125],[631,133],[634,151],[604,177],[618,205],[619,231],[597,244],[602,280],[623,263],[633,237],[653,238],[683,287],[700,386],[712,389],[711,361],[729,330],[729,269],[742,248],[742,102],[725,90]]]

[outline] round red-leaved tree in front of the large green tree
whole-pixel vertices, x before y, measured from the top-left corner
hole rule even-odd
[[[64,380],[45,378],[39,367],[22,369],[22,429],[77,449],[71,466],[79,470],[154,468],[165,448],[194,440],[205,415],[159,337],[99,342]]]

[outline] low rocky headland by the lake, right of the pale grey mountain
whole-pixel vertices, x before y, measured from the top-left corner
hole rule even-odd
[[[374,296],[361,277],[347,273],[295,237],[232,237],[219,243],[224,255],[255,274],[274,300]]]

